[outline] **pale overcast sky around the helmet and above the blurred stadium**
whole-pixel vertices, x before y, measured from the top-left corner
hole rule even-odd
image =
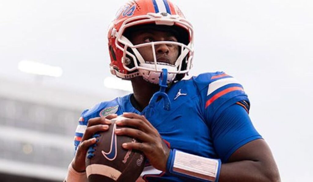
[[[105,94],[107,27],[123,2],[0,0],[0,77],[38,82],[17,68],[33,60],[64,71],[41,84]],[[194,25],[192,75],[225,71],[236,77],[282,181],[312,180],[313,1],[173,2]]]

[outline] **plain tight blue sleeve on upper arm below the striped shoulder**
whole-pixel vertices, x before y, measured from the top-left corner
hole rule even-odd
[[[211,125],[214,148],[222,162],[248,142],[262,138],[244,107],[233,104],[223,110]]]

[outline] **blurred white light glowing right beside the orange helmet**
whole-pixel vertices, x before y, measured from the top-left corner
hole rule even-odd
[[[133,88],[131,86],[131,81],[122,80],[121,78],[116,77],[106,77],[104,79],[104,86],[107,88],[118,89],[123,91],[132,92]]]

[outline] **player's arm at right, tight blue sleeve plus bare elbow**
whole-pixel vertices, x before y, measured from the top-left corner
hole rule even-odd
[[[257,133],[243,107],[228,107],[213,128],[217,130],[213,132],[215,148],[226,160],[221,166],[219,181],[280,181],[275,160],[266,142],[263,139],[249,141],[249,137]],[[249,142],[242,145],[244,140]],[[236,150],[233,152],[232,148]]]

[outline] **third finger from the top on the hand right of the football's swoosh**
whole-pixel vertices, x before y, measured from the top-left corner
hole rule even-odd
[[[143,142],[151,142],[153,140],[151,135],[148,135],[148,134],[146,134],[145,132],[143,132],[141,130],[136,130],[136,129],[133,129],[133,128],[119,128],[119,129],[115,129],[115,134],[116,135],[131,136],[131,137],[139,139],[139,140],[141,140]]]

